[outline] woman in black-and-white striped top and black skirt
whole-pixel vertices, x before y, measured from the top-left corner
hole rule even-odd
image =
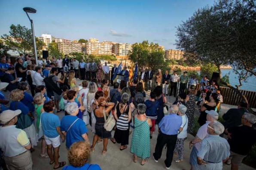
[[[121,100],[122,102],[116,105],[114,116],[116,119],[116,131],[114,138],[117,143],[121,143],[120,150],[127,148],[129,142],[129,130],[131,121],[131,107],[129,103],[130,96],[125,92]]]

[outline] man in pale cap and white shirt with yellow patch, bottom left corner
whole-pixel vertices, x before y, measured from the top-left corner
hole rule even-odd
[[[21,110],[5,110],[0,114],[0,148],[7,169],[32,170],[31,143],[25,131],[16,128],[15,123]]]

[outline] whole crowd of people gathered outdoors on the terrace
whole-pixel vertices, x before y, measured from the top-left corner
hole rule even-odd
[[[184,161],[184,141],[194,131],[196,104],[201,127],[189,142],[192,170],[221,170],[223,162],[238,170],[256,143],[256,116],[249,113],[247,103],[241,101],[238,109],[225,113],[223,125],[218,121],[223,98],[217,82],[210,82],[207,76],[198,83],[187,72],[179,76],[175,70],[172,75],[165,71],[162,75],[158,69],[153,80],[154,73],[148,68],[128,84],[129,72],[124,66],[124,80],[118,83],[110,80],[116,65],[110,71],[107,62],[104,66],[94,60],[79,63],[67,55],[51,60],[39,58],[35,66],[28,55],[21,54],[13,65],[6,56],[0,58],[0,80],[9,83],[6,90],[10,92],[8,100],[0,92],[1,166],[8,170],[32,170],[31,153],[39,142],[40,158],[49,159],[53,169],[100,170],[98,164],[88,164],[96,143],[103,143],[102,155],[106,155],[109,139],[123,151],[129,147],[129,136],[134,163],[141,158],[143,166],[151,156],[157,163],[166,147],[165,167],[170,169],[174,153],[175,163]],[[157,86],[150,91],[152,81]],[[197,84],[201,84],[199,91]],[[145,86],[149,87],[148,98]],[[177,95],[171,106],[167,95]],[[88,138],[88,130],[93,139]],[[153,149],[154,133],[158,137]],[[69,165],[60,161],[61,141],[66,141]]]

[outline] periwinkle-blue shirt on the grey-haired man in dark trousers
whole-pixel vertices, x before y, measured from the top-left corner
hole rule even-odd
[[[164,116],[161,122],[158,124],[163,134],[174,135],[178,134],[178,130],[182,124],[182,117],[177,114],[169,114]]]

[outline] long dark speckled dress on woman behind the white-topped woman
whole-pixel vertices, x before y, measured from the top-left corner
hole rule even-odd
[[[185,104],[187,107],[186,115],[189,119],[187,132],[190,134],[193,131],[193,125],[194,125],[195,99],[196,99],[196,95],[189,94],[189,100]]]

